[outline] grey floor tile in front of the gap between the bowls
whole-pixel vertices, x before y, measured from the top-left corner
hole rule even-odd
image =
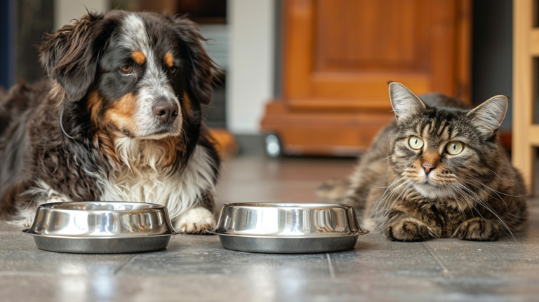
[[[287,275],[328,277],[325,254],[279,255],[253,254],[222,248],[218,236],[175,236],[175,242],[163,252],[140,254],[124,266],[122,275],[215,275],[246,277]]]

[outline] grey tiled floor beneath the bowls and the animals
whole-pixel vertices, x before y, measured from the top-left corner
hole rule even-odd
[[[314,201],[353,160],[237,158],[220,203]],[[389,242],[361,236],[348,252],[249,254],[218,237],[178,235],[147,254],[58,254],[0,224],[0,301],[538,301],[539,206],[529,231],[498,242]]]

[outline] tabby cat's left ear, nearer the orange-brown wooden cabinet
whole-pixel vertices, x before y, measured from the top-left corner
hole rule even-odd
[[[425,104],[405,85],[390,82],[390,99],[397,122],[425,109]]]

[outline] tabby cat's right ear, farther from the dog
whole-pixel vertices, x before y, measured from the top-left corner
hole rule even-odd
[[[468,112],[467,116],[472,117],[472,123],[481,133],[492,137],[500,128],[508,106],[509,99],[505,95],[496,95]]]

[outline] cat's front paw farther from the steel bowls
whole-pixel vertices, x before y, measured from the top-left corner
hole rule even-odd
[[[462,240],[494,241],[500,237],[500,226],[475,217],[460,224],[456,235]]]

